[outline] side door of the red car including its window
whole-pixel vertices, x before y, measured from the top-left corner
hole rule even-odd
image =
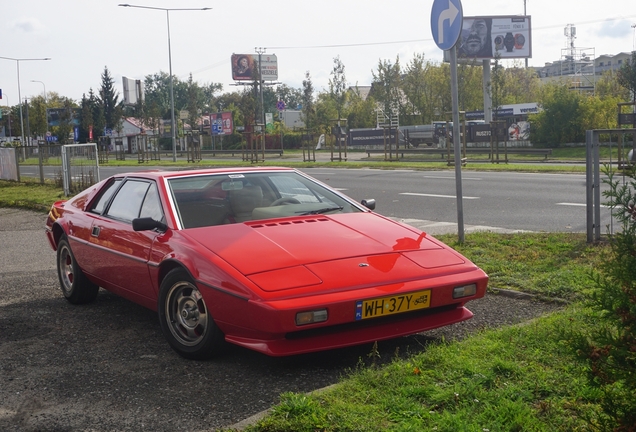
[[[90,268],[105,288],[142,304],[154,303],[157,292],[150,280],[148,260],[160,233],[134,231],[132,220],[138,217],[165,219],[156,183],[128,178],[93,221]]]

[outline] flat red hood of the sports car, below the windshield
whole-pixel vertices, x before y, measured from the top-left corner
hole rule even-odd
[[[373,213],[306,216],[197,228],[192,240],[266,291],[346,279],[356,283],[421,278],[423,269],[468,266],[461,255],[425,233]],[[434,269],[437,269],[434,271]],[[468,269],[466,269],[468,270]],[[461,270],[460,270],[461,271]],[[362,279],[360,279],[362,278]]]

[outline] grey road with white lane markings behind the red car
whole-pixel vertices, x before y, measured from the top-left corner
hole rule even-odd
[[[152,167],[102,166],[100,174],[106,178],[149,168]],[[35,166],[21,167],[25,176],[37,177],[36,171]],[[306,168],[303,171],[358,202],[375,198],[376,211],[385,216],[442,224],[455,224],[458,220],[452,170]],[[586,232],[587,229],[586,184],[582,174],[464,171],[462,192],[465,225],[513,231]],[[611,222],[609,211],[601,210],[600,226],[605,228]]]

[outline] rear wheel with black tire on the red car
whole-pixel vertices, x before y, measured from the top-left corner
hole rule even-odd
[[[99,286],[88,280],[79,267],[65,235],[57,244],[57,277],[62,293],[70,303],[90,303],[97,297]]]

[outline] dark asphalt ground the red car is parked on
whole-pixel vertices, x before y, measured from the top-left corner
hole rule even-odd
[[[90,305],[67,303],[44,219],[0,208],[2,431],[210,431],[271,407],[283,392],[337,383],[360,361],[371,361],[370,345],[287,358],[230,347],[211,361],[185,360],[147,309],[104,290]],[[374,361],[557,307],[488,294],[470,303],[473,319],[382,342]]]

